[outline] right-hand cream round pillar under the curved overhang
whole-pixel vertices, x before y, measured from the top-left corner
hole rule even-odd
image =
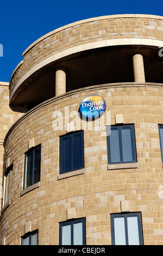
[[[143,64],[143,57],[141,54],[135,54],[133,56],[133,64],[134,64],[134,77],[135,82],[145,83],[145,69]]]

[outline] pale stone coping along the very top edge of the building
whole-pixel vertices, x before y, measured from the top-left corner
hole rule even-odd
[[[48,36],[57,33],[63,29],[66,28],[70,28],[72,26],[77,26],[79,24],[82,23],[86,23],[86,22],[93,22],[93,21],[98,21],[98,20],[105,20],[105,19],[115,19],[115,18],[149,18],[149,19],[159,19],[159,20],[163,20],[163,16],[158,16],[158,15],[148,15],[148,14],[116,14],[116,15],[106,15],[106,16],[99,16],[99,17],[93,17],[90,19],[86,19],[86,20],[81,20],[81,21],[76,21],[73,23],[70,23],[66,26],[62,26],[60,28],[55,29],[54,31],[51,31],[43,36],[41,36],[41,38],[37,39],[36,41],[34,41],[31,45],[28,46],[28,48],[22,53],[22,57],[30,50],[30,48],[32,48],[34,45],[36,45],[38,42],[40,42],[41,40],[47,38]]]

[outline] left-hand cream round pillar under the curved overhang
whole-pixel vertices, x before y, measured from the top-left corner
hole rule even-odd
[[[64,69],[57,69],[55,73],[55,96],[66,93],[66,73]]]

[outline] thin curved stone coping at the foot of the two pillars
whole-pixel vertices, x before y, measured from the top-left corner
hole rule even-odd
[[[52,102],[55,102],[57,100],[64,99],[65,97],[72,96],[72,95],[74,95],[76,93],[82,93],[82,92],[85,92],[85,91],[91,92],[92,90],[112,88],[112,87],[117,88],[117,87],[120,87],[120,86],[121,87],[161,87],[161,88],[163,88],[163,84],[162,83],[149,83],[149,82],[145,82],[145,83],[138,83],[138,82],[110,83],[110,84],[98,84],[97,86],[90,86],[90,87],[85,87],[85,88],[79,88],[79,89],[67,92],[65,94],[52,97],[51,99],[43,101],[42,103],[40,103],[36,107],[30,109],[24,115],[22,115],[22,117],[19,118],[10,127],[10,129],[8,130],[8,132],[7,132],[7,134],[6,134],[5,138],[4,138],[3,145],[5,145],[5,142],[7,141],[7,138],[9,137],[11,131],[14,130],[14,128],[18,125],[18,123],[20,123],[23,119],[27,118],[30,114],[32,114],[33,112],[37,111],[41,107],[46,106],[46,105],[48,105],[48,104],[50,104]]]

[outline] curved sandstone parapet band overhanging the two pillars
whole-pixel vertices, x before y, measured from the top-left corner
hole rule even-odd
[[[49,63],[75,53],[111,45],[150,45],[163,40],[163,19],[154,15],[111,15],[55,29],[23,52],[10,80],[10,102],[18,87]],[[125,81],[122,81],[125,82]],[[148,81],[149,82],[149,81]]]

